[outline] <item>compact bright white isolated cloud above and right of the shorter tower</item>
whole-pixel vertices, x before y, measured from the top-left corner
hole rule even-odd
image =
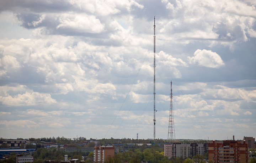
[[[190,64],[198,64],[199,66],[210,68],[219,68],[225,65],[217,53],[205,49],[197,49],[193,57],[188,57],[188,61]]]

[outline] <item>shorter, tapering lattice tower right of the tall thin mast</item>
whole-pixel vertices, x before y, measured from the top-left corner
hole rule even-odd
[[[168,140],[173,143],[175,140],[175,130],[174,130],[174,116],[172,108],[172,81],[171,81],[171,94],[170,94],[170,114],[169,114],[169,127],[168,127]]]

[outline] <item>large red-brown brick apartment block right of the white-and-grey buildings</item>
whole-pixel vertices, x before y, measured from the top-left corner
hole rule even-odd
[[[214,163],[249,162],[249,146],[248,144],[235,140],[210,141],[208,144],[208,159]]]

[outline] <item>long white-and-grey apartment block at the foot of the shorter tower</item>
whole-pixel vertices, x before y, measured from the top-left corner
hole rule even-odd
[[[196,154],[204,156],[204,154],[208,152],[208,143],[204,144],[181,144],[181,143],[174,143],[174,144],[165,144],[164,145],[164,154],[165,156],[171,157],[182,157],[182,158],[189,158],[196,156]]]

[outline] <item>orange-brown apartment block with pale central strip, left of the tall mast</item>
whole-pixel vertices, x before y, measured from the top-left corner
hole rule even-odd
[[[114,157],[112,145],[94,147],[94,162],[104,163],[104,159],[107,157]]]

